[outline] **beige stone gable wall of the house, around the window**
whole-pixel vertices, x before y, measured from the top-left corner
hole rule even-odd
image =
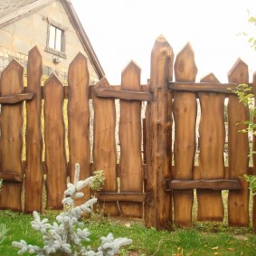
[[[65,53],[67,58],[59,57],[61,62],[57,64],[52,62],[54,54],[45,52],[48,20],[62,24],[65,28]],[[13,24],[6,25],[0,29],[0,33],[0,71],[3,71],[5,66],[14,58],[25,68],[28,52],[34,45],[37,45],[43,56],[43,78],[46,79],[54,71],[65,83],[69,64],[76,54],[82,52],[88,57],[60,1],[55,1],[36,13],[27,15]],[[89,59],[88,63],[90,84],[94,84],[99,81],[99,77]]]

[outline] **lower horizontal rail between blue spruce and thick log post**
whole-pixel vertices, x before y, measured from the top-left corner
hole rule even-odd
[[[100,192],[98,199],[101,202],[137,202],[143,203],[146,201],[146,193],[115,193],[115,192]]]

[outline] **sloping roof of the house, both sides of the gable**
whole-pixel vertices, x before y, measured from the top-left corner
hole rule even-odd
[[[0,28],[7,24],[12,24],[14,21],[21,19],[29,13],[34,13],[38,9],[43,8],[46,5],[52,4],[57,0],[0,0]],[[84,51],[87,52],[90,62],[102,78],[105,74],[100,65],[98,57],[94,52],[90,40],[85,33],[81,21],[76,14],[71,0],[60,0],[65,8],[74,29],[76,30],[78,37],[81,40]]]

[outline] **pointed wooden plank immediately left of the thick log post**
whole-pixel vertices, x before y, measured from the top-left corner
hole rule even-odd
[[[122,72],[121,90],[140,91],[140,69],[135,62]],[[141,102],[120,100],[120,192],[143,190],[141,139]],[[142,217],[142,206],[119,202],[123,216]]]

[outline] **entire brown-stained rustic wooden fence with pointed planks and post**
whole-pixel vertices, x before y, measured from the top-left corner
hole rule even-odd
[[[220,83],[213,74],[195,82],[197,68],[190,44],[185,45],[174,62],[171,46],[165,38],[158,37],[151,53],[147,85],[141,85],[140,69],[135,62],[128,64],[122,72],[121,85],[115,87],[110,86],[106,78],[96,86],[89,86],[87,60],[81,53],[70,64],[68,86],[63,86],[55,74],[41,86],[42,67],[41,54],[34,47],[28,57],[27,87],[23,82],[24,68],[16,61],[1,75],[0,177],[4,178],[1,209],[43,212],[44,183],[46,207],[61,209],[67,176],[72,181],[75,163],[80,163],[82,179],[93,170],[105,171],[106,184],[99,200],[107,214],[143,217],[147,227],[157,229],[169,229],[173,222],[191,226],[196,189],[198,221],[223,221],[222,190],[229,190],[229,224],[249,224],[249,190],[242,175],[252,173],[253,168],[249,168],[248,136],[238,133],[245,127],[237,125],[248,119],[249,113],[231,90],[237,84],[249,82],[244,62],[238,60],[234,64],[226,84]],[[256,87],[256,75],[252,85]],[[62,110],[64,99],[68,100],[67,113]],[[92,163],[90,99],[94,109]],[[120,102],[119,160],[116,99]],[[197,99],[201,106],[199,128],[196,126]],[[228,99],[228,167],[223,161],[225,99]],[[25,161],[22,159],[24,101]],[[142,101],[147,101],[144,125]],[[68,117],[68,139],[65,139],[64,115]],[[172,136],[174,127],[175,136]],[[194,166],[197,128],[199,164]],[[255,140],[253,147],[256,148]],[[84,192],[89,198],[89,189]],[[255,197],[253,201],[256,230]]]

